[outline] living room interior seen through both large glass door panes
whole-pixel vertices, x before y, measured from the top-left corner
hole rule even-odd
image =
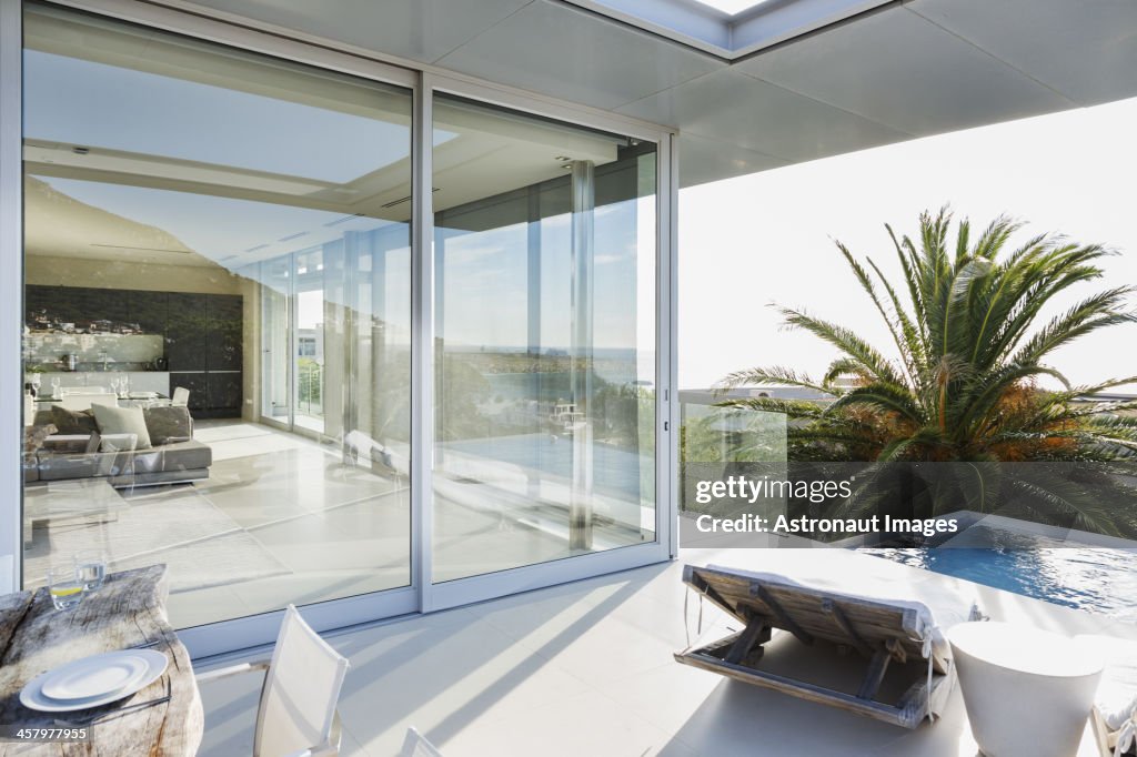
[[[25,585],[164,563],[179,629],[409,587],[410,90],[24,36]],[[656,143],[433,124],[434,581],[655,541]]]

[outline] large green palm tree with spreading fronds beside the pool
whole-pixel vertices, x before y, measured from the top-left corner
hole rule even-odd
[[[1047,479],[1046,486],[1052,486],[1047,489],[1036,477],[1034,500],[1019,500],[1056,499],[1038,509],[1072,515],[1082,526],[1117,533],[1118,514],[1103,513],[1110,502],[1101,501],[1101,492],[1096,502],[1094,497],[1076,494],[1087,491],[1085,466],[1137,461],[1137,417],[1123,415],[1137,409],[1137,401],[1093,400],[1111,388],[1137,382],[1137,376],[1074,386],[1048,358],[1086,334],[1137,322],[1137,313],[1127,308],[1137,288],[1104,289],[1039,323],[1039,314],[1057,294],[1099,278],[1098,264],[1111,252],[1051,234],[1009,251],[1020,224],[1006,217],[974,240],[971,225],[958,223],[954,244],[948,239],[951,226],[946,208],[921,215],[916,240],[897,239],[886,225],[903,272],[899,286],[871,258],[862,264],[837,244],[887,324],[895,347],[891,358],[848,327],[780,307],[788,327],[836,347],[840,357],[816,381],[775,366],[733,373],[721,389],[788,384],[831,396],[832,402],[745,398],[723,405],[785,413],[790,419],[791,460],[960,463],[977,477],[982,474],[987,480],[969,488],[972,505],[974,492],[982,492],[977,509],[993,507],[991,491],[1006,484],[1003,476],[1002,484],[993,485],[994,468],[985,464],[1081,464],[1082,473],[1073,476],[1079,485],[1065,485],[1070,480],[1065,475],[1061,482]],[[1039,389],[1036,382],[1044,376],[1062,389]],[[1043,467],[1052,474],[1059,469]],[[1134,501],[1137,490],[1126,489],[1115,475],[1098,483],[1105,481],[1111,491]],[[1113,484],[1122,490],[1114,491]],[[958,501],[958,492],[953,496]],[[1121,519],[1137,525],[1131,513]]]

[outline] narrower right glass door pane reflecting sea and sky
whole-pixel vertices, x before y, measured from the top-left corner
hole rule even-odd
[[[434,119],[434,580],[654,541],[655,145]]]

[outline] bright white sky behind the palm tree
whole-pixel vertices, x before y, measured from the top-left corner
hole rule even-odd
[[[1105,244],[1107,275],[1074,288],[1046,317],[1101,289],[1137,283],[1137,99],[798,164],[679,196],[679,383],[782,365],[820,375],[836,351],[786,331],[772,303],[805,308],[890,340],[835,240],[896,274],[885,230],[915,234],[921,211],[949,205],[985,227],[1006,214],[1027,234]],[[954,233],[953,233],[954,239]],[[1012,240],[1012,243],[1015,240]],[[1134,302],[1137,308],[1137,301]],[[888,352],[888,355],[894,355]],[[1054,353],[1076,384],[1137,375],[1137,324]],[[1126,388],[1137,391],[1137,384]]]

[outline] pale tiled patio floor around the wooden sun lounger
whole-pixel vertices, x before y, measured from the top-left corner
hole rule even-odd
[[[687,646],[682,565],[770,568],[780,551],[687,549],[674,563],[327,635],[352,665],[340,701],[341,754],[398,754],[414,725],[447,757],[976,755],[957,688],[945,717],[904,731],[672,659]],[[913,580],[957,583],[904,569]],[[1137,626],[1107,616],[976,591],[991,619],[1137,639]],[[694,638],[696,602],[688,609]],[[705,612],[704,632],[722,622]],[[201,755],[249,752],[258,690],[257,676],[202,689]],[[1078,754],[1097,754],[1088,729]]]

